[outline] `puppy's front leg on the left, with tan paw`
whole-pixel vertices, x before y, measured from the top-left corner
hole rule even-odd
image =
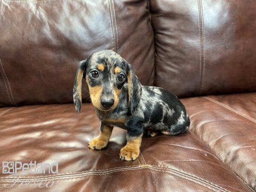
[[[106,125],[102,122],[100,129],[102,131],[101,134],[98,138],[95,138],[88,143],[89,148],[101,150],[107,147],[108,140],[112,134],[113,126]]]

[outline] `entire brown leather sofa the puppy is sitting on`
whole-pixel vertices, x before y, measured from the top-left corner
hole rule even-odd
[[[120,128],[90,150],[100,122],[85,83],[80,113],[72,89],[78,61],[102,49],[183,98],[189,131],[143,136],[132,163]],[[255,0],[1,0],[0,72],[0,163],[58,162],[0,172],[0,191],[256,191]]]

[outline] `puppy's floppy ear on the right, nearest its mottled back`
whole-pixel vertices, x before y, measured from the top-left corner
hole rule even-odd
[[[127,82],[128,82],[128,97],[129,97],[128,106],[129,106],[130,113],[133,115],[135,109],[137,108],[140,102],[142,87],[131,65],[128,64],[127,61],[125,61],[125,64],[126,64],[126,73],[127,73]]]

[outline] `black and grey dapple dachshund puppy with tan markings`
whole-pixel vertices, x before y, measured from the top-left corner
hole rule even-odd
[[[177,96],[163,88],[142,86],[131,65],[116,52],[99,51],[80,62],[73,88],[77,112],[83,78],[101,120],[100,136],[88,143],[91,149],[105,148],[113,126],[117,126],[128,131],[119,157],[133,161],[140,154],[144,131],[153,137],[158,132],[182,134],[189,128],[189,116]]]

